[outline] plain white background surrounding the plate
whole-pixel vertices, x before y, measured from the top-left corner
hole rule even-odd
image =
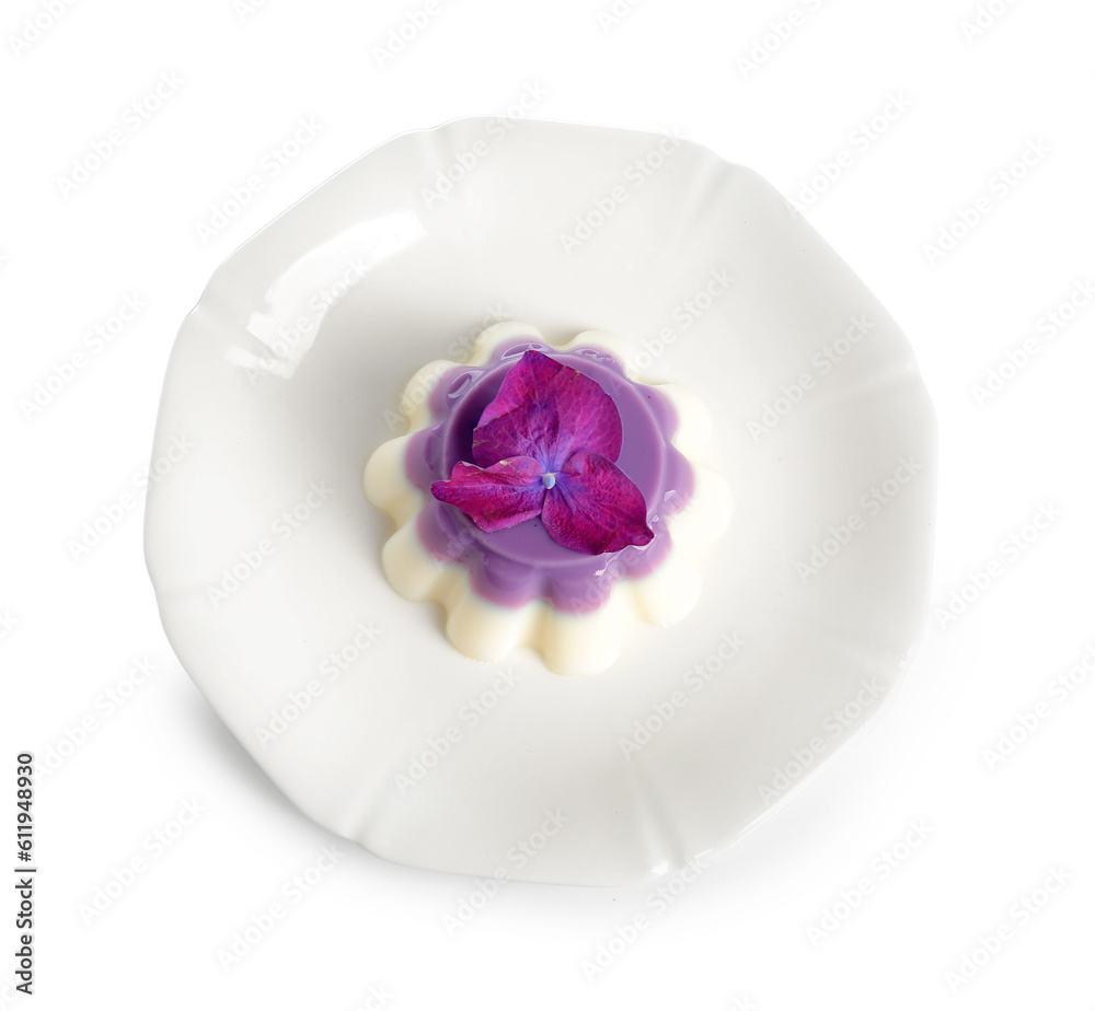
[[[383,60],[424,2],[47,7],[0,15],[0,835],[13,857],[15,755],[33,751],[41,868],[36,995],[11,990],[5,885],[0,1008],[1093,1007],[1095,678],[1059,678],[1095,666],[1095,310],[1049,322],[1095,279],[1088,4],[993,0],[964,30],[976,0],[437,0]],[[592,978],[583,963],[650,914],[654,886],[509,883],[452,929],[475,881],[337,844],[222,728],[141,553],[169,350],[216,266],[391,136],[538,92],[538,117],[677,130],[798,202],[906,329],[941,429],[933,616],[897,702]],[[300,117],[320,129],[274,175]],[[254,173],[262,190],[203,237]],[[127,299],[142,307],[108,345],[85,338]],[[1024,713],[1035,730],[992,759]],[[904,849],[912,824],[925,838]],[[1037,891],[1054,874],[1057,894]],[[285,918],[226,966],[278,900]]]

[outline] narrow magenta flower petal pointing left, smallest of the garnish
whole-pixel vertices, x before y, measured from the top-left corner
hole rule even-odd
[[[546,491],[542,476],[543,468],[530,456],[500,460],[485,470],[458,463],[449,480],[434,481],[429,490],[489,532],[540,515]]]

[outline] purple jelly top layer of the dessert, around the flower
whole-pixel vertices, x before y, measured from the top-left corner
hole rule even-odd
[[[646,499],[647,522],[654,531],[649,544],[585,555],[556,544],[539,516],[486,533],[430,493],[430,485],[448,480],[459,461],[473,462],[472,431],[480,415],[497,395],[506,373],[530,348],[588,375],[615,402],[623,423],[616,466]],[[442,375],[429,406],[434,423],[411,437],[406,455],[407,477],[426,498],[418,514],[418,536],[439,561],[466,566],[472,589],[480,596],[508,607],[543,599],[557,611],[587,613],[604,602],[618,579],[647,576],[668,555],[666,518],[688,504],[693,489],[692,468],[670,443],[677,415],[656,387],[632,383],[608,351],[590,347],[557,351],[518,339],[495,348],[485,365],[461,365]]]

